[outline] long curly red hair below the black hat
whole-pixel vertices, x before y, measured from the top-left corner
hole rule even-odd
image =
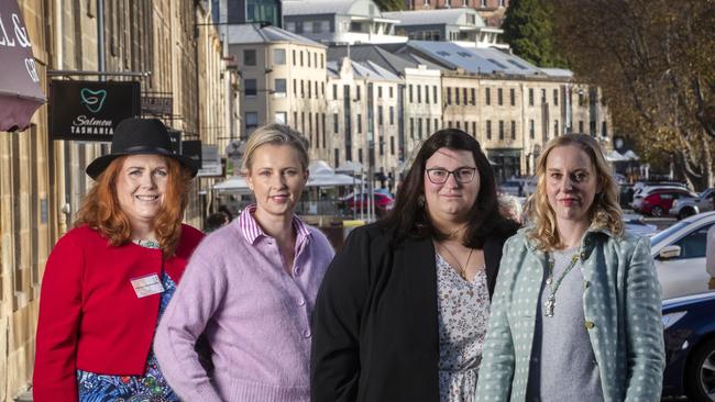
[[[98,231],[112,246],[131,241],[131,224],[122,211],[117,197],[117,176],[124,165],[127,156],[112,160],[99,175],[97,183],[85,197],[75,226],[88,225]],[[174,255],[179,236],[184,210],[188,204],[188,188],[191,174],[176,159],[164,157],[167,164],[168,182],[164,202],[154,219],[154,232],[160,248],[165,256]]]

